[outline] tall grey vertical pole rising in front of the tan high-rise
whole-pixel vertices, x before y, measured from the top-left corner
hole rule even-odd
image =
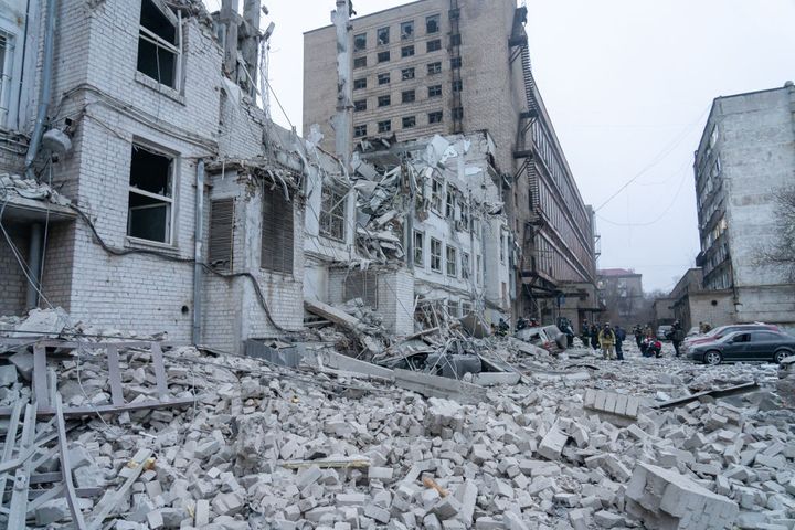
[[[353,151],[353,87],[351,84],[350,17],[352,2],[337,0],[331,22],[337,29],[337,114],[333,117],[335,150],[346,169]]]

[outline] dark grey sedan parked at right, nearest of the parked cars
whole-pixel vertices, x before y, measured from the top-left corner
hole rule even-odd
[[[711,342],[693,344],[688,357],[704,364],[735,361],[781,362],[795,354],[795,337],[772,330],[735,331]]]

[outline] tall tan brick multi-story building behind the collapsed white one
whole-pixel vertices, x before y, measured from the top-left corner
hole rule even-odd
[[[575,322],[595,309],[593,219],[583,203],[533,81],[515,0],[420,0],[351,20],[350,100],[339,86],[333,26],[304,36],[304,127],[318,124],[324,146],[413,140],[487,130],[504,173],[518,315]],[[353,109],[349,130],[331,117]]]

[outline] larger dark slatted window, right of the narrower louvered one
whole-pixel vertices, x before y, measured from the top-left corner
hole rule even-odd
[[[282,189],[264,190],[261,268],[293,274],[293,203],[287,201]]]

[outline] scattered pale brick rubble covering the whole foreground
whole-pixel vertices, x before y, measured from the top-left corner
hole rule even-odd
[[[780,406],[773,364],[708,368],[634,349],[626,362],[583,348],[554,357],[490,338],[481,351],[518,368],[517,384],[421,374],[443,380],[443,394],[480,389],[462,403],[405,390],[409,370],[329,368],[333,351],[286,368],[72,329],[47,349],[49,381],[35,339],[0,338],[0,441],[14,409],[22,433],[2,453],[2,506],[19,510],[24,480],[11,484],[29,474],[30,528],[74,528],[70,500],[77,528],[117,530],[794,528],[795,414]],[[748,381],[761,390],[656,409]],[[36,398],[28,454],[21,404],[33,389],[47,399]],[[64,420],[66,448],[47,410]],[[64,462],[73,496],[46,494]]]

